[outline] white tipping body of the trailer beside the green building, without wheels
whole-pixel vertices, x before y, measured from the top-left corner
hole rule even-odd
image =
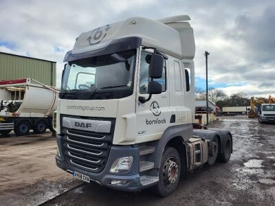
[[[16,90],[18,91],[15,96],[12,93]],[[30,78],[25,83],[1,85],[0,91],[2,94],[0,101],[3,100],[4,105],[8,105],[10,102],[21,103],[21,106],[14,113],[8,113],[8,108],[4,108],[0,112],[1,117],[10,117],[14,114],[19,117],[49,117],[56,110],[58,92],[39,84],[32,84]],[[24,92],[24,95],[18,95],[19,91]]]

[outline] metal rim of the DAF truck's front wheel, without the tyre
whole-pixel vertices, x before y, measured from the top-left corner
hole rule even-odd
[[[179,166],[173,158],[167,159],[162,170],[162,175],[164,177],[164,185],[166,186],[170,186],[177,181]]]

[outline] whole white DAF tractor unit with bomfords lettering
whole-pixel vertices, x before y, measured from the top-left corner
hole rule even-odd
[[[195,41],[189,16],[133,17],[84,32],[64,61],[56,165],[115,190],[154,187],[227,162],[227,130],[193,130]]]

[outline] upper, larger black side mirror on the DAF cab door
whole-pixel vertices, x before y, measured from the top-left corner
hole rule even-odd
[[[159,54],[152,54],[149,65],[149,77],[152,79],[162,78],[162,71],[164,67],[164,58]]]

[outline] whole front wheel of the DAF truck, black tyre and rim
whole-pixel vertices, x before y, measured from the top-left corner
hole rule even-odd
[[[181,173],[179,152],[175,148],[166,147],[162,155],[159,168],[159,181],[153,188],[154,192],[162,197],[175,191]]]

